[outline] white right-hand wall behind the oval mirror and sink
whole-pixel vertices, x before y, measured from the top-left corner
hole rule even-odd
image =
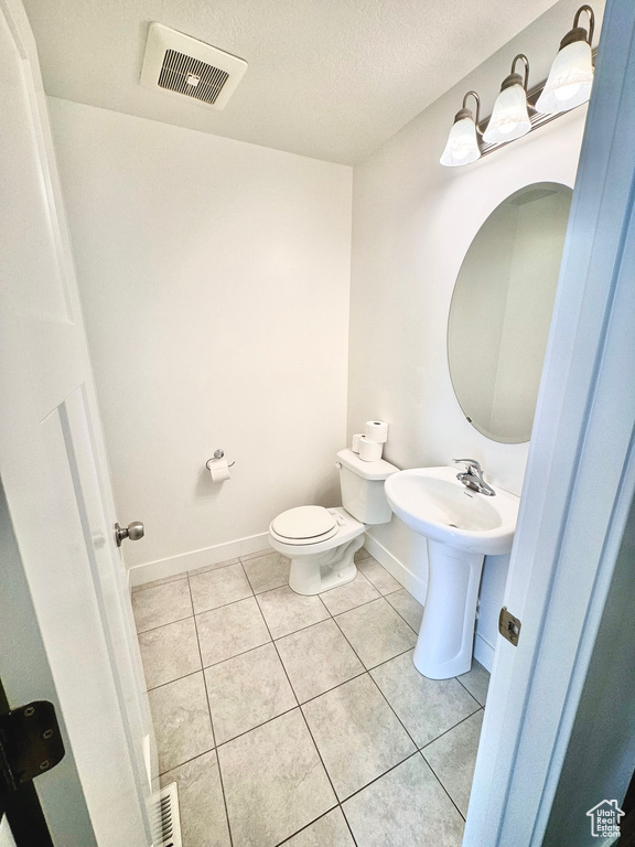
[[[491,482],[520,493],[528,444],[491,441],[463,417],[448,368],[448,313],[467,247],[494,208],[528,183],[573,185],[585,107],[466,168],[442,168],[439,157],[464,93],[478,92],[482,117],[489,115],[520,52],[531,63],[529,84],[543,79],[577,8],[568,0],[555,6],[355,169],[348,437],[370,417],[387,420],[385,458],[400,468],[470,457]],[[601,17],[602,4],[594,9]],[[396,518],[372,535],[376,555],[402,566],[423,599],[424,539]],[[506,564],[485,564],[476,646],[486,662]]]

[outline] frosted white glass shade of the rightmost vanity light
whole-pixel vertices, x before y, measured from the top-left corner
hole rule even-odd
[[[562,47],[553,60],[536,109],[547,115],[574,109],[591,97],[592,84],[591,46],[585,41],[574,41]]]

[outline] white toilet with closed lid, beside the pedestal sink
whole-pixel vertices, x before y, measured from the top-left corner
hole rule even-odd
[[[387,524],[392,512],[384,483],[399,470],[379,459],[364,462],[352,450],[337,453],[343,508],[298,506],[275,517],[269,544],[291,559],[289,586],[299,594],[319,594],[355,579],[355,553],[372,524]]]

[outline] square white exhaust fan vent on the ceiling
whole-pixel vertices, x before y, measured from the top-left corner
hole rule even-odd
[[[151,23],[141,85],[192,97],[224,109],[247,71],[247,62],[223,50]]]

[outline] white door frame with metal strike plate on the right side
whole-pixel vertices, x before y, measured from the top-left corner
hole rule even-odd
[[[609,0],[463,847],[542,844],[635,491],[628,81],[635,4]]]

